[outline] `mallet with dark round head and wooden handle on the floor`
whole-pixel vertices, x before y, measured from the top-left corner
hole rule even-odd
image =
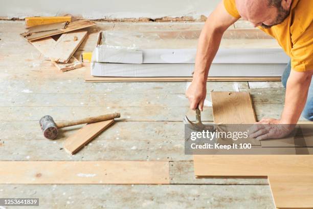
[[[107,114],[107,115],[100,115],[96,117],[87,117],[87,118],[83,118],[80,120],[55,123],[53,118],[50,115],[46,115],[46,116],[43,116],[39,120],[39,124],[40,124],[44,137],[46,137],[47,139],[55,139],[58,136],[58,129],[70,127],[70,126],[76,126],[76,125],[80,125],[84,123],[93,123],[93,122],[99,122],[99,121],[104,121],[104,120],[111,120],[111,119],[119,118],[119,117],[121,117],[120,113],[113,113],[113,114]]]

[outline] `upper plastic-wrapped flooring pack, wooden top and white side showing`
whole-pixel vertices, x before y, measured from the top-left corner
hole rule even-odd
[[[194,64],[199,30],[103,31],[94,62]],[[222,39],[213,63],[287,63],[274,39]]]

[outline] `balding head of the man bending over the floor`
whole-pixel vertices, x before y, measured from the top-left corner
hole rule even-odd
[[[236,0],[240,16],[254,27],[271,28],[289,15],[292,0]]]

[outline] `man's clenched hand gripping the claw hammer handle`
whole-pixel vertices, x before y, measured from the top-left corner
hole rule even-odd
[[[186,91],[186,96],[189,99],[190,109],[195,110],[199,107],[199,110],[203,111],[204,101],[207,96],[206,82],[193,80]]]

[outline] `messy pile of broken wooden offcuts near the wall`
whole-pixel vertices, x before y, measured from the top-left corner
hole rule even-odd
[[[64,18],[57,18],[56,21],[62,19]],[[40,23],[46,23],[44,20],[47,18],[39,18],[39,20]],[[26,25],[32,25],[31,23],[27,18]],[[57,22],[28,27],[21,35],[38,49],[46,60],[51,60],[59,70],[65,72],[83,66],[73,54],[87,36],[87,31],[81,29],[94,25],[90,20]]]

